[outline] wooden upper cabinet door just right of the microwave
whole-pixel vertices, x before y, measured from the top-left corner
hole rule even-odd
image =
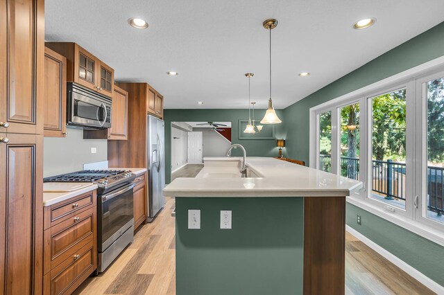
[[[111,111],[110,139],[127,139],[128,92],[114,86]]]

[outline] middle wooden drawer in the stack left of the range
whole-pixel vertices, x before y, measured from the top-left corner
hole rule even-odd
[[[96,206],[44,231],[44,273],[96,239]]]

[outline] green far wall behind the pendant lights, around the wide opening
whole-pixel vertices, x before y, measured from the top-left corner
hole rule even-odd
[[[256,110],[256,118],[262,118],[265,110]],[[277,110],[282,116],[282,110]],[[278,147],[275,139],[244,139],[239,140],[239,119],[248,120],[248,109],[165,109],[165,182],[171,181],[171,122],[231,122],[232,143],[244,145],[248,156],[277,157]],[[282,138],[282,124],[275,125],[275,137]],[[285,150],[284,150],[285,153]],[[234,150],[233,156],[240,156],[240,150]]]

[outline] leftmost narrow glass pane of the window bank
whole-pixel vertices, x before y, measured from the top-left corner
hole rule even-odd
[[[319,162],[318,169],[332,171],[332,112],[319,115]]]

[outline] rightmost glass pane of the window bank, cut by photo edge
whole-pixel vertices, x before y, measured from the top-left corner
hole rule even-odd
[[[425,217],[444,224],[444,78],[425,83],[427,157],[425,161]]]

